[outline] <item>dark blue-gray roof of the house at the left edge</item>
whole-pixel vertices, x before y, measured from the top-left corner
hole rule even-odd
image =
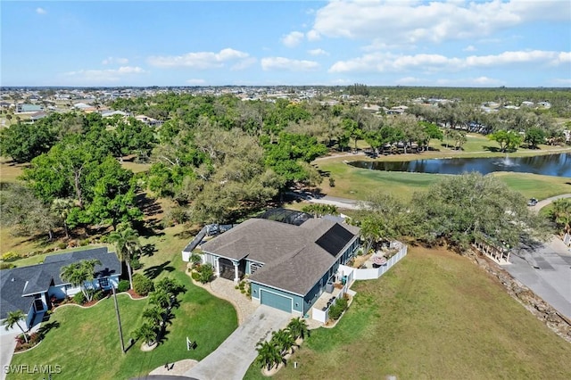
[[[120,275],[120,261],[114,253],[107,252],[106,247],[54,254],[46,256],[42,264],[0,270],[0,319],[5,318],[8,311],[27,313],[33,294],[45,293],[52,283],[67,284],[60,277],[62,267],[92,259],[101,261],[101,265],[95,265],[95,278]]]

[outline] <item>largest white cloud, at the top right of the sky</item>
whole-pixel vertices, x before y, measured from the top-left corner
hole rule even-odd
[[[571,2],[334,1],[316,13],[310,33],[393,44],[485,37],[527,21],[571,21]]]

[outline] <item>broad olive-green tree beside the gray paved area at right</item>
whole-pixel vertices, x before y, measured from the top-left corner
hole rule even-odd
[[[488,235],[514,247],[522,236],[544,239],[549,232],[545,219],[529,210],[521,194],[490,175],[443,178],[415,194],[412,205],[409,217],[426,241],[442,237],[465,248],[478,235]]]

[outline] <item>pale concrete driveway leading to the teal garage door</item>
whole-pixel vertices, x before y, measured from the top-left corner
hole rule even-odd
[[[269,340],[272,331],[287,326],[291,318],[290,313],[261,305],[216,351],[186,371],[185,376],[199,380],[241,380],[258,356],[256,343]]]

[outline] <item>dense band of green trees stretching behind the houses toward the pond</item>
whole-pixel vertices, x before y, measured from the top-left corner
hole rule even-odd
[[[292,186],[318,186],[322,178],[310,162],[329,150],[356,149],[360,140],[376,150],[406,150],[447,136],[461,148],[465,127],[482,124],[490,132],[561,133],[549,115],[488,115],[459,102],[410,106],[403,115],[373,115],[351,102],[243,102],[233,95],[170,93],[110,105],[164,123],[151,128],[119,115],[70,112],[0,131],[1,155],[29,163],[23,187],[2,193],[4,224],[48,233],[133,224],[142,219],[137,194],[145,190],[171,201],[170,222],[233,221]],[[150,169],[135,175],[121,165],[126,157]]]

